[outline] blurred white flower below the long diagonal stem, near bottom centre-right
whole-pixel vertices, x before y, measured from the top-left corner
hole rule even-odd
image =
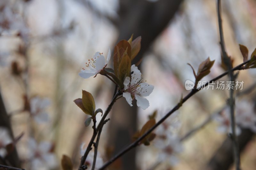
[[[154,140],[154,145],[160,150],[159,160],[168,161],[170,165],[175,166],[179,162],[175,154],[183,151],[180,139],[166,130],[164,125],[161,125],[159,128],[156,131],[156,139]]]

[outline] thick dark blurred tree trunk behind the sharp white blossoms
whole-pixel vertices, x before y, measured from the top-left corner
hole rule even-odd
[[[117,22],[119,30],[118,41],[128,40],[132,34],[134,38],[141,36],[141,49],[134,63],[140,60],[155,38],[164,30],[178,11],[182,0],[121,0],[119,8],[120,20]],[[132,63],[132,64],[134,64]],[[137,129],[137,106],[133,102],[131,107],[124,98],[119,99],[112,109],[109,145],[113,146],[112,156],[132,142],[132,135]],[[136,169],[135,150],[125,154],[114,166],[117,169]],[[114,169],[114,166],[111,168]]]

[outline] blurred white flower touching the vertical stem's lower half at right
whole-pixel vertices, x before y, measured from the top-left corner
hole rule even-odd
[[[218,122],[217,131],[220,133],[232,133],[230,122],[230,108],[227,107],[222,112],[214,116],[214,120]],[[241,134],[241,129],[236,125],[236,135]]]

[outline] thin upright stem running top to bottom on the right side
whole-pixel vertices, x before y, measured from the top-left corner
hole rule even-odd
[[[222,19],[221,19],[221,0],[218,0],[217,3],[218,8],[218,22],[219,22],[219,31],[220,31],[220,46],[221,51],[223,54],[223,61],[225,65],[228,67],[228,74],[230,77],[230,81],[235,81],[234,73],[231,71],[232,69],[232,63],[230,58],[228,57],[226,50],[225,50],[225,43],[224,43],[224,36],[223,36],[223,28],[222,28]],[[233,150],[234,150],[234,157],[235,157],[235,164],[236,164],[236,170],[240,170],[240,154],[239,154],[239,148],[236,138],[236,120],[235,120],[235,98],[234,98],[234,85],[232,85],[232,88],[229,90],[229,105],[230,105],[230,122],[231,122],[231,128],[232,128],[232,141],[233,141]]]

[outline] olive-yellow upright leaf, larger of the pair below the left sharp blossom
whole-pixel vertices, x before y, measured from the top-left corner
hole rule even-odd
[[[82,90],[82,103],[85,108],[85,113],[94,116],[95,102],[91,93]]]

